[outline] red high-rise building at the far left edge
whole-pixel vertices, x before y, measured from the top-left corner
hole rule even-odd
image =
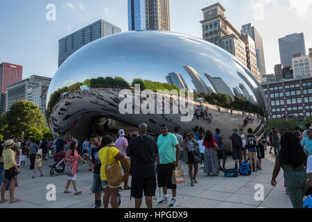
[[[22,73],[21,65],[2,62],[0,64],[0,93],[5,93],[8,85],[21,81]]]

